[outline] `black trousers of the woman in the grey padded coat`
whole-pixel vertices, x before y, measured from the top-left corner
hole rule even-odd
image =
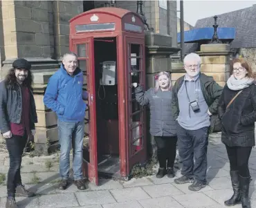
[[[174,166],[174,160],[176,157],[176,137],[154,137],[157,147],[157,158],[159,161],[159,167],[166,168]]]

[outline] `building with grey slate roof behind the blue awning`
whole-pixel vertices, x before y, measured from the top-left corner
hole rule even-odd
[[[235,28],[235,39],[230,44],[232,57],[248,59],[256,71],[256,4],[249,8],[217,15],[219,28]],[[196,21],[194,28],[212,27],[213,17]],[[193,52],[196,44],[185,44],[185,53]]]

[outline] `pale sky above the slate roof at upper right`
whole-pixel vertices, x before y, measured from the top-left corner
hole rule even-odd
[[[194,26],[198,19],[221,15],[226,12],[232,12],[243,8],[248,8],[256,4],[256,0],[250,1],[210,1],[210,0],[184,0],[184,21]],[[177,10],[180,10],[180,1],[177,1]],[[255,14],[256,15],[256,14]],[[180,17],[180,12],[177,12]],[[214,20],[213,20],[214,21]]]

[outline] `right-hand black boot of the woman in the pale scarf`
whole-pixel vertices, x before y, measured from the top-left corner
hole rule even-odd
[[[240,189],[241,189],[241,207],[251,208],[249,199],[249,187],[250,187],[250,177],[239,176]]]

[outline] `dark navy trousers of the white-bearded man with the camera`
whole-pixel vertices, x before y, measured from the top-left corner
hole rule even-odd
[[[208,127],[197,130],[184,129],[177,122],[181,174],[206,183]],[[195,160],[195,162],[194,162]]]

